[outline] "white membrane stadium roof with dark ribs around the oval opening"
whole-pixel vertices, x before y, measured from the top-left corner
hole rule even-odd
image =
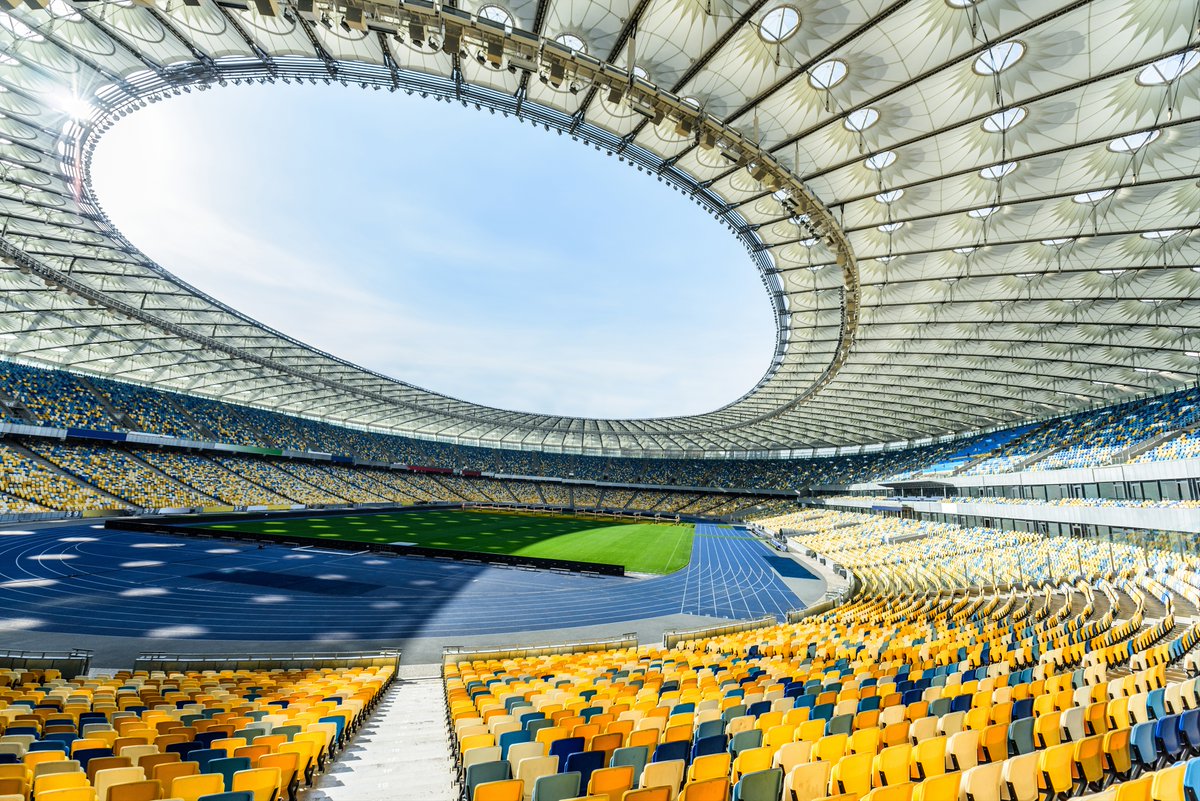
[[[416,436],[613,454],[911,440],[1162,391],[1200,369],[1196,14],[1182,0],[25,0],[0,13],[0,347]],[[505,411],[199,293],[107,221],[90,155],[167,94],[276,80],[500,110],[656,173],[746,243],[775,305],[773,366],[691,417]],[[368,146],[359,134],[346,146]]]

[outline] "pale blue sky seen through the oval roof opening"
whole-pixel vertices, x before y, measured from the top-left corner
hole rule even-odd
[[[312,345],[467,401],[691,414],[773,350],[742,246],[682,194],[540,127],[341,86],[192,92],[94,161],[143,252]]]

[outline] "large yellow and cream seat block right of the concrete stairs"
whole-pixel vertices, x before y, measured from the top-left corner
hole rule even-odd
[[[1061,540],[820,514],[806,544],[876,573],[839,608],[670,649],[445,666],[463,797],[1198,797],[1194,556],[1100,543],[1050,583],[1032,564]],[[926,528],[906,542],[902,524]],[[1012,589],[946,566],[980,553]]]

